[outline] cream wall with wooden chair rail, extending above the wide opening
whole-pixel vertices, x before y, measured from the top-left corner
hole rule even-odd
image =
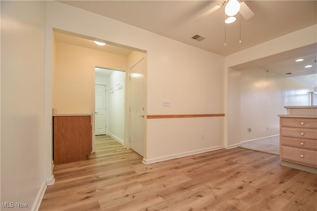
[[[223,56],[63,3],[48,5],[48,28],[147,51],[147,114],[223,113]],[[172,106],[162,107],[161,100],[170,100]],[[222,119],[182,118],[177,124],[175,119],[148,120],[147,159],[222,146]],[[205,141],[200,141],[201,133]]]

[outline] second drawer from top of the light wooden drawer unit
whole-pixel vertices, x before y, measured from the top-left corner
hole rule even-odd
[[[317,129],[281,127],[281,136],[317,139]]]

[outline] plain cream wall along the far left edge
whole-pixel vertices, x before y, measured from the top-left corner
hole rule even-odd
[[[14,203],[1,210],[36,210],[46,188],[45,157],[52,155],[44,150],[46,2],[0,3],[1,203]]]

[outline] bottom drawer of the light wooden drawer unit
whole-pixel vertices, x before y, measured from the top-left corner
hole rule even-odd
[[[315,150],[281,146],[280,158],[282,160],[290,160],[304,165],[317,166],[317,151]]]

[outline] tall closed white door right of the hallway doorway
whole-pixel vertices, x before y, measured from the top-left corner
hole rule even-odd
[[[130,148],[142,157],[146,147],[145,72],[144,58],[130,69]]]

